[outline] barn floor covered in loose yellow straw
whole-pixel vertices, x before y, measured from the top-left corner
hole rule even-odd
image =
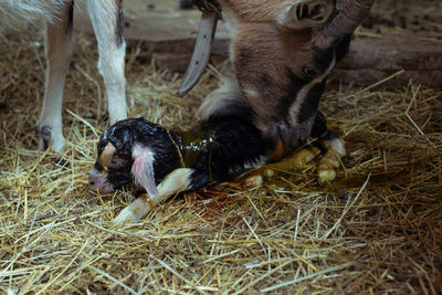
[[[33,133],[42,35],[0,38],[0,293],[442,292],[440,88],[328,91],[320,109],[349,152],[332,185],[318,186],[313,167],[284,170],[262,187],[235,180],[178,196],[116,228],[130,188],[87,190],[107,122],[95,41],[76,35],[66,146],[54,154],[38,151]],[[128,50],[129,115],[189,126],[221,64],[185,99],[175,97],[180,75],[154,64]]]

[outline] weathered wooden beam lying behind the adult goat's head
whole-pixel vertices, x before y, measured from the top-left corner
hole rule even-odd
[[[193,41],[194,42],[194,41]],[[218,39],[213,54],[227,57],[228,39]],[[154,54],[157,65],[175,72],[186,71],[190,52]],[[400,87],[410,81],[433,88],[442,87],[442,42],[418,38],[386,35],[383,38],[356,38],[350,52],[332,73],[332,81],[339,84],[367,86],[399,71],[404,72],[383,83]],[[335,83],[335,84],[338,84]]]

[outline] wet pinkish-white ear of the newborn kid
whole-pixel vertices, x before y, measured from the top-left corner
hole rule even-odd
[[[154,175],[154,151],[147,147],[136,145],[133,158],[131,173],[135,180],[147,191],[149,197],[154,197],[158,193]]]

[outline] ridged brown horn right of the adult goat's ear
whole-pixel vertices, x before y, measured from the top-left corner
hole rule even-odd
[[[370,11],[373,0],[347,0],[335,19],[325,28],[325,34],[341,38],[351,34]]]

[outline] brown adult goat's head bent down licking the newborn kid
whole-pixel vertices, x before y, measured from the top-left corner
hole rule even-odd
[[[315,134],[327,76],[372,3],[347,0],[337,10],[335,0],[220,0],[231,31],[231,72],[198,115],[248,104],[263,135],[292,151]]]

